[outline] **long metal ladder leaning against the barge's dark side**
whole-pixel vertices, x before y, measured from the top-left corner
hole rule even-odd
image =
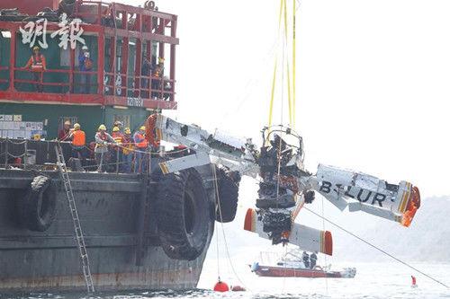
[[[91,275],[91,269],[89,268],[89,258],[87,257],[87,251],[85,248],[85,238],[83,236],[83,231],[81,230],[80,218],[78,217],[78,211],[76,210],[74,193],[72,192],[72,185],[70,184],[70,180],[68,178],[66,161],[64,159],[64,155],[62,154],[61,145],[55,145],[55,152],[57,155],[58,170],[61,175],[61,179],[64,182],[64,189],[66,190],[68,207],[70,208],[70,215],[72,215],[72,220],[74,221],[76,242],[80,251],[83,275],[85,276],[85,285],[87,287],[87,292],[91,294],[94,293],[95,290]]]

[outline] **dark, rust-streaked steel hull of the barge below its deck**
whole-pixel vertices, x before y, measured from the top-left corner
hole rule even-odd
[[[37,175],[50,178],[57,196],[56,216],[45,232],[32,232],[18,221],[17,203]],[[212,219],[197,259],[170,259],[157,237],[156,182],[138,174],[69,172],[69,178],[96,290],[197,286]],[[212,196],[212,189],[206,190]],[[58,171],[0,169],[0,293],[63,290],[85,291],[85,279]]]

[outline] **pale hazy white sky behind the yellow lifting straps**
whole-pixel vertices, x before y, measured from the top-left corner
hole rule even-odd
[[[296,122],[307,168],[329,163],[410,180],[425,197],[450,194],[450,2],[300,4]],[[267,123],[279,1],[157,5],[179,15],[174,115],[257,138]]]

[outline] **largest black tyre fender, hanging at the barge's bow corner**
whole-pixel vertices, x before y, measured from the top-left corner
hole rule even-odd
[[[193,260],[211,233],[210,203],[194,169],[163,175],[157,185],[157,231],[171,259]]]

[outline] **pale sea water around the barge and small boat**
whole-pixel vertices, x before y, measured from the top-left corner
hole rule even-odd
[[[98,299],[145,299],[145,298],[450,298],[450,289],[438,285],[427,277],[414,273],[409,268],[397,263],[346,263],[340,266],[357,268],[355,278],[294,278],[294,277],[257,277],[247,265],[237,264],[235,271],[221,268],[222,279],[229,285],[246,286],[247,292],[214,293],[211,291],[217,281],[217,267],[211,259],[205,263],[198,289],[186,291],[129,291],[121,293],[98,293],[92,296],[76,293],[60,294],[22,294],[0,295],[0,298],[12,299],[63,299],[63,298],[98,298]],[[449,264],[414,264],[438,280],[450,283]],[[234,273],[236,272],[236,273]],[[418,279],[418,287],[411,287],[410,276]],[[237,276],[237,277],[236,277]],[[240,282],[238,281],[240,279]]]

